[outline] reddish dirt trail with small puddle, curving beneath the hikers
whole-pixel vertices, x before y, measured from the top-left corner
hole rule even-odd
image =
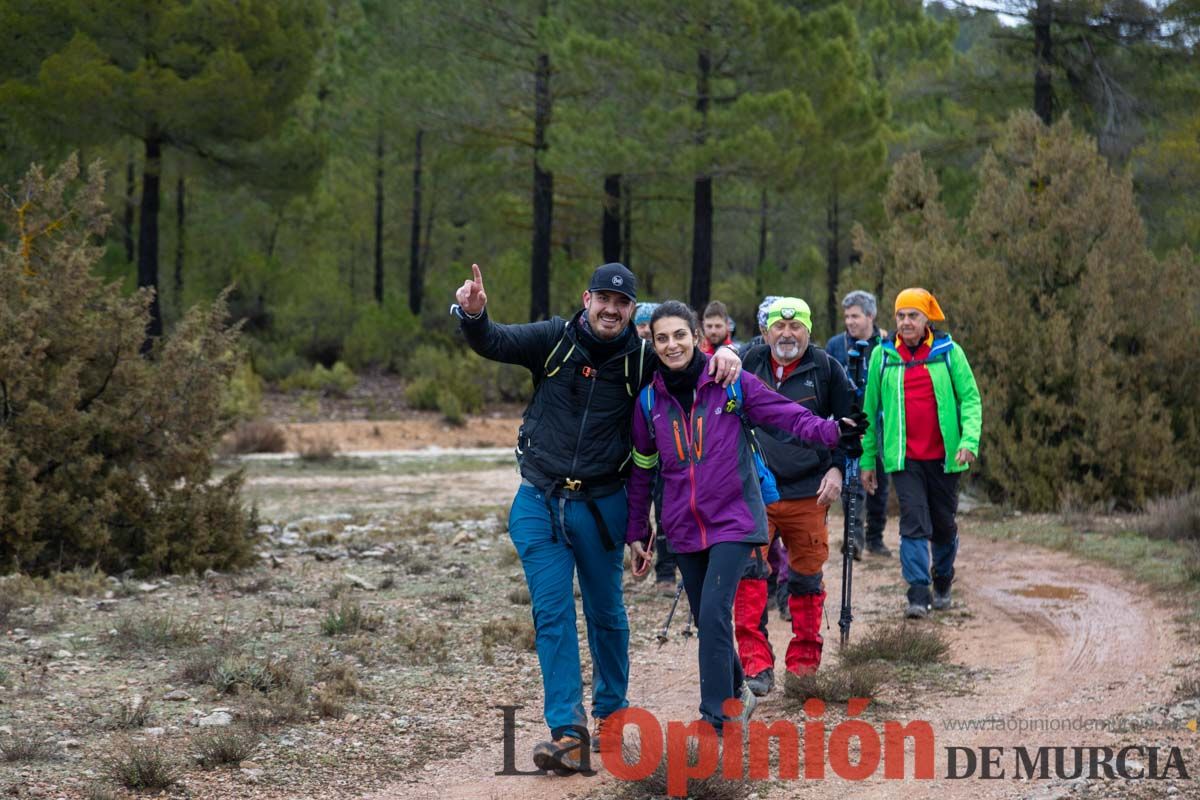
[[[840,530],[840,519],[830,521]],[[1013,780],[946,781],[943,748],[1037,745],[1103,746],[1118,734],[1105,730],[1008,732],[948,729],[947,721],[1000,717],[1009,724],[1050,726],[1037,720],[1109,717],[1135,712],[1169,700],[1172,681],[1163,675],[1181,655],[1180,642],[1169,622],[1170,613],[1156,606],[1136,584],[1112,570],[1068,555],[990,542],[964,525],[959,557],[960,583],[955,587],[956,609],[940,615],[952,642],[952,661],[970,669],[964,693],[948,693],[920,708],[906,703],[900,692],[884,687],[880,702],[888,716],[901,721],[928,720],[936,738],[937,780],[863,783],[829,777],[823,781],[775,783],[767,798],[1038,798],[1050,782]],[[835,535],[836,537],[836,535]],[[894,541],[894,530],[888,540]],[[835,654],[836,590],[841,566],[826,565],[828,621],[826,660]],[[896,560],[869,559],[856,573],[854,636],[872,625],[898,618],[902,584]],[[781,651],[787,640],[785,622],[773,615],[770,637]],[[646,642],[631,646],[630,702],[650,710],[659,720],[691,720],[698,702],[695,640],[672,640],[661,650]],[[781,670],[781,664],[780,664]],[[782,674],[781,672],[779,673]],[[522,727],[516,735],[518,769],[530,769],[528,753],[544,735],[540,721],[540,686],[532,682],[518,702]],[[490,716],[494,714],[496,716]],[[776,687],[758,706],[755,718],[773,721],[794,712],[784,711]],[[950,722],[954,724],[954,722]],[[498,712],[481,715],[479,728],[464,741],[475,745],[458,759],[427,764],[392,787],[370,796],[475,800],[520,796],[530,799],[581,798],[613,778],[601,771],[593,777],[498,777],[503,763]],[[1008,762],[1010,768],[1012,760]],[[911,766],[910,766],[911,772]],[[882,774],[882,768],[878,770]],[[832,776],[832,772],[829,774]],[[1183,796],[1183,795],[1181,795]]]

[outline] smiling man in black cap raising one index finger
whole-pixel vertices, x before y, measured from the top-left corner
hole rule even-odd
[[[622,264],[596,269],[583,308],[571,319],[524,325],[491,321],[478,264],[472,272],[451,308],[467,343],[486,359],[527,367],[534,381],[517,434],[521,488],[509,512],[509,535],[529,587],[551,732],[551,740],[534,748],[534,763],[544,770],[578,770],[586,742],[590,739],[596,750],[605,718],[629,705],[625,475],[634,405],[658,356],[630,324],[637,278]],[[742,362],[725,348],[709,369],[730,384]],[[590,735],[575,630],[576,572],[593,664]]]

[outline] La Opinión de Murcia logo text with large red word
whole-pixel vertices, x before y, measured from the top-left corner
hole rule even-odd
[[[718,770],[725,780],[799,780],[802,764],[805,780],[823,780],[828,769],[846,781],[865,781],[880,777],[881,764],[882,777],[886,780],[934,780],[936,741],[932,724],[923,720],[887,720],[881,733],[876,726],[856,718],[868,705],[868,698],[851,699],[846,706],[848,718],[827,730],[823,721],[824,702],[809,699],[804,703],[808,718],[803,726],[797,726],[791,720],[751,722],[745,745],[742,724],[738,722],[726,722],[720,734],[703,720],[670,721],[664,730],[664,726],[649,711],[638,708],[622,709],[605,722],[600,759],[613,777],[643,781],[666,758],[667,792],[672,796],[685,796],[688,781],[710,777]],[[516,766],[516,711],[523,706],[493,708],[504,714],[504,768],[496,774],[544,775],[538,769],[523,771]],[[727,718],[737,717],[742,714],[742,703],[731,698],[725,702],[722,711]],[[623,747],[626,728],[636,730],[641,742],[636,751],[626,752]],[[570,726],[563,732],[556,732],[556,735],[568,732],[583,744],[576,752],[581,760],[578,771],[595,775],[587,728]],[[770,775],[772,740],[779,753],[778,772],[774,776]],[[912,753],[911,770],[906,760],[908,741],[912,742],[907,748]],[[1178,747],[1132,745],[1115,750],[1094,746],[947,746],[943,750],[946,772],[942,777],[946,780],[1190,780]],[[626,760],[635,752],[637,760]],[[852,758],[852,753],[857,756]]]

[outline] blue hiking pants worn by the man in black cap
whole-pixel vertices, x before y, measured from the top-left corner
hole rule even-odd
[[[587,726],[575,630],[576,572],[592,651],[592,716],[606,717],[629,705],[629,619],[622,594],[629,506],[624,489],[595,499],[617,537],[617,547],[606,551],[586,501],[556,498],[552,504],[558,517],[553,521],[546,495],[522,483],[509,512],[509,535],[529,587],[544,712],[557,739],[570,726]]]

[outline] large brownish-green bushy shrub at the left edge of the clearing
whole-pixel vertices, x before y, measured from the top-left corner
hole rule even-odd
[[[228,570],[254,559],[242,476],[212,480],[238,332],[222,295],[142,353],[150,295],[92,272],[103,170],[32,168],[0,203],[0,572]],[[34,235],[30,231],[40,231]]]

